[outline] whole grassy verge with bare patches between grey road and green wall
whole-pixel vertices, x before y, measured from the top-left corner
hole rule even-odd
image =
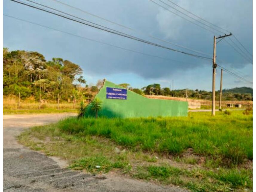
[[[243,111],[215,117],[191,112],[170,118],[68,118],[27,130],[19,141],[67,159],[73,169],[116,171],[192,191],[252,189],[252,114]]]

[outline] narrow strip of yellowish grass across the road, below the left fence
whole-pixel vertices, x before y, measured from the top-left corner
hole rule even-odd
[[[35,114],[35,113],[77,113],[76,109],[3,109],[4,115],[12,114]]]

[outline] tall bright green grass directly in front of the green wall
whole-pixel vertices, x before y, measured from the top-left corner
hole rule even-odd
[[[179,156],[192,148],[199,156],[233,166],[252,160],[252,115],[231,113],[217,112],[215,117],[206,112],[172,118],[69,118],[58,126],[70,135],[103,136],[132,150]]]

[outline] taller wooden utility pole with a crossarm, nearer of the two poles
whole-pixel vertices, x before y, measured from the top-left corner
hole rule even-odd
[[[223,35],[223,36],[219,36],[216,37],[214,36],[213,38],[213,57],[212,57],[212,106],[211,106],[211,115],[215,116],[215,76],[216,76],[216,39],[221,39],[227,36],[231,36],[232,33],[230,33],[229,35]],[[221,41],[220,40],[220,41]]]

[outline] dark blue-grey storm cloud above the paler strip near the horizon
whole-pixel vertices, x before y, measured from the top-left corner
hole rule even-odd
[[[53,6],[90,21],[115,28],[116,30],[122,30],[122,32],[125,33],[158,44],[163,44],[167,47],[181,50],[179,47],[152,39],[145,34],[191,47],[195,50],[209,53],[208,57],[211,58],[213,34],[169,13],[167,10],[158,7],[148,0],[63,1],[111,21],[136,29],[136,32],[56,4],[54,1],[37,2]],[[236,34],[245,47],[248,47],[249,51],[252,50],[252,1],[234,0],[231,3],[230,1],[220,0],[197,0],[193,2],[186,0],[175,2],[214,24],[230,30],[232,33]],[[219,4],[222,6],[219,6]],[[104,75],[131,72],[142,76],[144,79],[157,79],[169,76],[177,71],[182,75],[184,71],[211,65],[211,61],[197,59],[181,53],[119,37],[72,21],[66,21],[65,19],[58,18],[48,13],[42,13],[38,10],[33,10],[7,0],[4,1],[4,13],[79,36],[166,58],[160,59],[139,53],[132,53],[127,50],[102,45],[42,27],[35,27],[21,21],[13,21],[9,18],[4,18],[4,45],[11,49],[37,50],[43,53],[47,59],[51,59],[53,56],[69,59],[81,65],[87,74]],[[142,33],[138,33],[137,31],[141,31]],[[216,33],[216,35],[218,34]],[[185,51],[191,52],[188,50]],[[243,68],[248,64],[248,62],[234,52],[224,41],[217,44],[217,59],[224,60],[226,61],[224,64],[227,66],[232,64],[232,67],[237,69]]]

